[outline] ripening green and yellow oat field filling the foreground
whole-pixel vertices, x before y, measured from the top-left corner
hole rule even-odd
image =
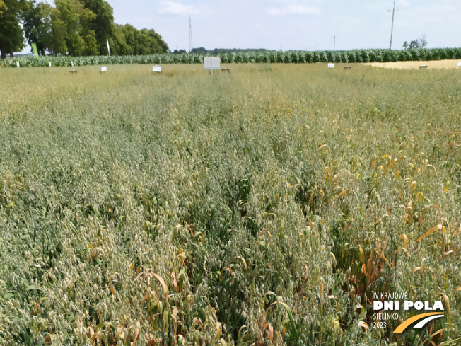
[[[226,67],[0,69],[0,345],[459,345],[461,71]]]

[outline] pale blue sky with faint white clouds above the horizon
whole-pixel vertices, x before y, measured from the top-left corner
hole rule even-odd
[[[115,23],[153,28],[170,50],[193,47],[337,50],[388,48],[388,0],[107,0]],[[48,1],[51,2],[50,0]],[[426,36],[428,47],[461,47],[461,1],[396,0],[392,48]]]

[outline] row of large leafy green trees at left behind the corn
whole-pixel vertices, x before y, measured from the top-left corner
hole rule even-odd
[[[40,55],[141,55],[168,52],[153,29],[114,23],[113,8],[104,0],[0,0],[0,55],[23,50],[24,36]]]

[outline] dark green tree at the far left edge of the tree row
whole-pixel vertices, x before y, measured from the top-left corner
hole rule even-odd
[[[0,57],[5,59],[6,54],[13,54],[25,47],[19,18],[28,4],[24,0],[0,1]]]

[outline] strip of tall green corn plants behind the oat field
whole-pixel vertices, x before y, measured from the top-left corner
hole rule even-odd
[[[103,64],[202,64],[204,54],[153,54],[126,57],[20,57],[4,59],[0,67],[71,67]],[[347,52],[266,52],[219,54],[222,63],[286,63],[305,64],[315,62],[366,63],[407,62],[461,59],[461,48],[417,50],[351,50]]]

